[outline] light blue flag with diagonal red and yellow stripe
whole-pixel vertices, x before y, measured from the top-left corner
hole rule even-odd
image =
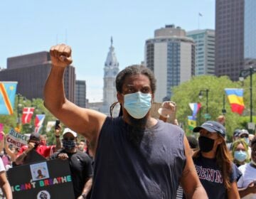
[[[18,82],[0,82],[0,114],[13,114]]]

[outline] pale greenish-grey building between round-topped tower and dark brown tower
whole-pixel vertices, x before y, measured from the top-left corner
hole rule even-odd
[[[195,75],[215,75],[215,31],[210,29],[188,31],[196,46]]]

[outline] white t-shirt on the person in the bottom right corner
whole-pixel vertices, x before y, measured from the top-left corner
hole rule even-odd
[[[242,172],[242,176],[238,181],[238,188],[247,188],[247,186],[256,181],[256,168],[250,166],[250,163],[246,163],[238,169]],[[256,199],[256,193],[250,193],[246,195],[243,199]]]

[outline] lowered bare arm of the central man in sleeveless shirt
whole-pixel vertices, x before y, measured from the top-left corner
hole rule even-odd
[[[196,168],[193,164],[191,157],[191,149],[188,144],[188,139],[184,137],[185,155],[186,155],[186,166],[183,170],[181,177],[181,186],[184,190],[186,198],[208,198],[206,190],[199,181],[196,173]]]

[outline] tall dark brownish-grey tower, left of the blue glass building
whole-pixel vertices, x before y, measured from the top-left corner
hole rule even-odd
[[[245,1],[215,1],[215,75],[228,75],[231,80],[238,80],[244,68]],[[255,18],[250,19],[253,24]]]

